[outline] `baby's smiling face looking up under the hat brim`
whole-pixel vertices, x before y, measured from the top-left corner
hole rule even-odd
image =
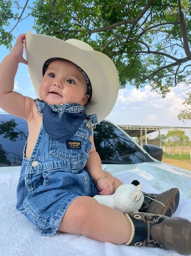
[[[89,95],[81,71],[67,60],[53,60],[42,78],[39,95],[51,105],[78,103],[85,105]]]

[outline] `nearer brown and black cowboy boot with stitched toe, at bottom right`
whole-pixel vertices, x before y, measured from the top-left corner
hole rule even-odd
[[[161,247],[191,254],[191,222],[178,217],[149,213],[124,213],[132,226],[126,245]]]

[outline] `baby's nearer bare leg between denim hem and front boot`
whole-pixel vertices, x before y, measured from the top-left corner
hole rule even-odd
[[[58,231],[122,244],[130,239],[131,225],[122,212],[99,204],[94,198],[80,196],[69,205]]]

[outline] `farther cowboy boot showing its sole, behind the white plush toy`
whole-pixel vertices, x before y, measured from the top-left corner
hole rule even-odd
[[[178,188],[171,188],[160,194],[143,192],[143,195],[145,200],[139,212],[161,214],[168,217],[176,211],[180,199]]]

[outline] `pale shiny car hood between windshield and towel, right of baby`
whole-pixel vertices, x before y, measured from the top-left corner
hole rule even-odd
[[[158,191],[178,187],[182,198],[191,199],[191,171],[189,170],[159,161],[124,165],[107,164],[105,166],[113,175],[120,177],[120,174],[129,172],[131,178],[148,183]]]

